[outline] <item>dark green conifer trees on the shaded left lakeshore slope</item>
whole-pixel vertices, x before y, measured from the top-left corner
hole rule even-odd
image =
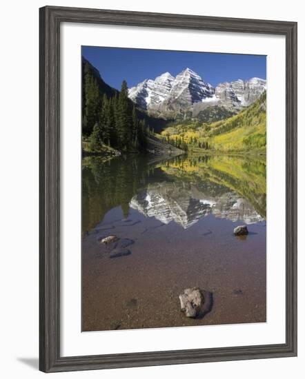
[[[105,145],[121,152],[145,152],[148,125],[139,119],[135,105],[128,98],[126,81],[121,91],[101,94],[99,83],[89,63],[83,71],[83,136],[88,138],[92,152],[101,152]]]

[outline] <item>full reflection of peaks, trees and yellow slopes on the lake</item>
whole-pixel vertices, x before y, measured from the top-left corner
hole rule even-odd
[[[148,156],[87,157],[82,185],[83,233],[118,206],[126,217],[132,208],[184,229],[208,214],[246,224],[266,218],[265,158],[189,155],[150,163]]]

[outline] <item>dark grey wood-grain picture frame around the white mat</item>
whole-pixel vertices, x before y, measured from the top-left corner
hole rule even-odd
[[[297,23],[62,8],[39,10],[40,234],[39,369],[45,372],[173,365],[297,355]],[[60,355],[60,25],[104,23],[157,28],[282,34],[286,38],[286,342],[278,345]]]

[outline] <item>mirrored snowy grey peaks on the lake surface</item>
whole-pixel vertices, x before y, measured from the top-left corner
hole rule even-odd
[[[219,189],[218,185],[215,187]],[[208,214],[231,221],[243,221],[246,224],[264,220],[253,205],[235,192],[226,189],[226,192],[213,197],[187,183],[148,185],[147,189],[132,197],[130,207],[165,224],[175,221],[184,229],[195,225],[201,217]]]

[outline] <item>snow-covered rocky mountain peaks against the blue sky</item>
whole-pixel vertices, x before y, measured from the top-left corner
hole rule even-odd
[[[230,112],[239,112],[253,103],[266,90],[264,79],[239,79],[220,83],[215,88],[186,68],[176,77],[169,72],[146,79],[130,88],[128,96],[140,107],[159,116],[186,114],[197,117],[207,108],[217,107]]]

